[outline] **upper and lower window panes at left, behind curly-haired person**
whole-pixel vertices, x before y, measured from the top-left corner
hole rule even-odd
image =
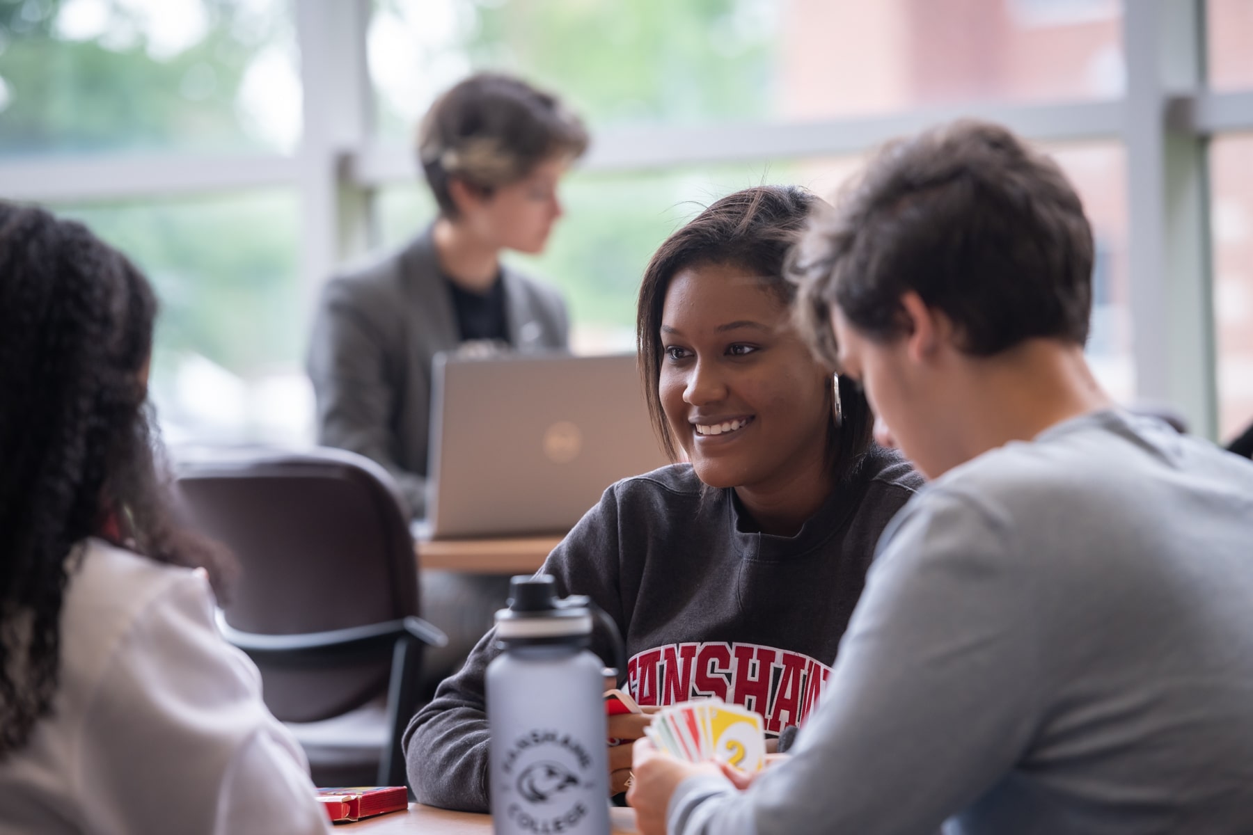
[[[0,1],[0,163],[289,151],[301,85],[284,0]],[[58,199],[162,300],[152,391],[167,437],[311,437],[292,189]],[[138,189],[138,187],[135,187]]]

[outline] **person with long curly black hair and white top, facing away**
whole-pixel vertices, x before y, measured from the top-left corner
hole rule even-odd
[[[0,831],[322,832],[158,477],[155,314],[85,227],[0,203]]]

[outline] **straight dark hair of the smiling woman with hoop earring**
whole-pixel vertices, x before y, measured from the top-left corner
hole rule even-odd
[[[672,461],[678,459],[678,448],[658,393],[664,358],[662,309],[670,279],[692,267],[737,267],[759,275],[783,304],[792,304],[796,288],[783,277],[783,264],[809,213],[821,203],[809,192],[788,185],[761,185],[728,194],[667,238],[648,262],[639,288],[635,338],[653,427]],[[824,389],[832,412],[827,441],[836,483],[852,474],[861,462],[875,422],[861,389],[842,377],[838,386],[842,416],[838,426],[832,388]]]

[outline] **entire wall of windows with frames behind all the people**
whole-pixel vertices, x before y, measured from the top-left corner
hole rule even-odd
[[[466,73],[523,74],[593,129],[548,250],[512,259],[565,294],[579,351],[633,344],[644,265],[700,207],[829,197],[881,140],[974,114],[1084,199],[1101,382],[1227,437],[1253,419],[1249,44],[1253,0],[0,0],[0,194],[152,275],[167,433],[307,441],[320,284],[430,222],[412,133]]]

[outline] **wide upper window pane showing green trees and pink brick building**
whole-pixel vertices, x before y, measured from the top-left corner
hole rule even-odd
[[[558,89],[596,128],[1120,95],[1118,0],[376,0],[382,130],[474,69]]]

